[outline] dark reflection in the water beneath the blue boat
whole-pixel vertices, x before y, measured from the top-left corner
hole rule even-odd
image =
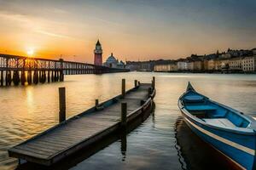
[[[176,131],[177,152],[181,153],[187,169],[232,169],[224,156],[193,133],[181,116],[177,118]],[[183,161],[180,162],[183,165]],[[186,167],[183,166],[183,169]]]

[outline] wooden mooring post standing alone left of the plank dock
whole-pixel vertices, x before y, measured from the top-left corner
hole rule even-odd
[[[59,88],[59,122],[66,120],[66,92],[65,88]]]

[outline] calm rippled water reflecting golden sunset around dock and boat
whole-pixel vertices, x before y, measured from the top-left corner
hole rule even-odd
[[[79,162],[73,169],[226,169],[214,150],[184,124],[177,99],[193,83],[202,94],[256,116],[256,76],[129,72],[65,77],[65,82],[0,88],[0,169],[13,169],[7,150],[58,122],[58,88],[67,88],[67,116],[90,108],[95,99],[120,94],[121,78],[127,88],[133,80],[156,77],[155,111],[127,136],[126,151],[116,141]]]

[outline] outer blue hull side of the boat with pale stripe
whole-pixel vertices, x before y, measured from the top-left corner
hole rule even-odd
[[[183,111],[182,111],[183,113]],[[219,131],[191,119],[183,113],[185,122],[201,139],[227,156],[240,169],[255,169],[255,136]]]

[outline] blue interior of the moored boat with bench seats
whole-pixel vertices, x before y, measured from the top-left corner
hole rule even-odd
[[[207,97],[189,91],[182,99],[183,106],[193,116],[200,118],[207,124],[218,127],[248,127],[247,119],[229,109],[217,105]]]

